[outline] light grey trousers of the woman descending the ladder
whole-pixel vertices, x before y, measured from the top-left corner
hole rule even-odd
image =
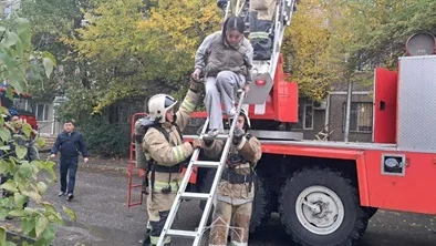
[[[225,113],[235,107],[235,92],[246,83],[245,76],[231,71],[221,71],[217,76],[206,79],[206,110],[209,129],[224,130],[221,102]]]

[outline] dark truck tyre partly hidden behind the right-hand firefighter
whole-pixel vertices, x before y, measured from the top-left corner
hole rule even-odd
[[[271,216],[273,204],[272,194],[268,188],[268,183],[262,178],[258,177],[255,201],[252,203],[250,233],[255,234],[259,232]]]

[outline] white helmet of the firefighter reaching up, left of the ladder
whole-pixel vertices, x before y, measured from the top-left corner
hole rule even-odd
[[[153,95],[148,100],[148,114],[150,121],[158,121],[165,123],[165,114],[168,110],[173,109],[177,104],[177,101],[167,94]]]

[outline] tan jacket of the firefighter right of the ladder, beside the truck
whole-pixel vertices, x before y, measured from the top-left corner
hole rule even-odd
[[[218,140],[211,144],[205,144],[205,154],[212,158],[219,157],[224,145],[225,142]],[[260,142],[251,134],[246,134],[238,145],[230,146],[227,165],[218,185],[218,201],[232,205],[252,202],[256,178],[252,168],[261,155]]]

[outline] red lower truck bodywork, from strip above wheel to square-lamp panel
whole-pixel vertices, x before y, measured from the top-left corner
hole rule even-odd
[[[436,214],[436,154],[262,144],[262,153],[356,162],[361,205]],[[405,176],[382,174],[383,154],[404,154]]]

